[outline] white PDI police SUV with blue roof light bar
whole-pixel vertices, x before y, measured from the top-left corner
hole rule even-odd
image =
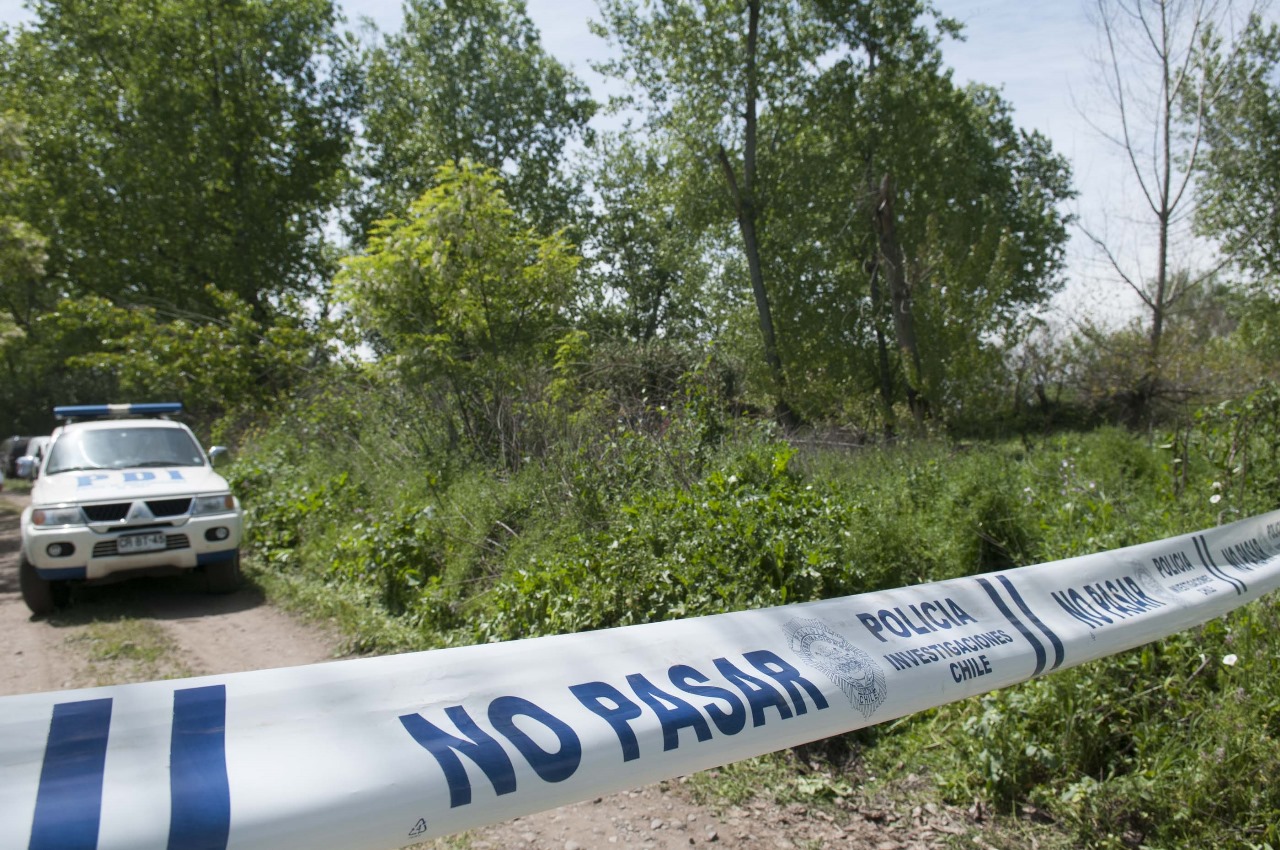
[[[180,403],[55,407],[22,513],[19,584],[32,613],[73,582],[200,571],[210,593],[239,585],[243,515],[186,425]]]

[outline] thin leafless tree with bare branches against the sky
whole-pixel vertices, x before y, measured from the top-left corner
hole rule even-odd
[[[1115,129],[1106,136],[1129,165],[1155,239],[1153,262],[1143,274],[1115,245],[1085,229],[1151,320],[1137,415],[1146,412],[1160,389],[1170,312],[1199,282],[1199,275],[1172,275],[1171,250],[1192,236],[1188,224],[1194,215],[1193,183],[1204,155],[1206,120],[1229,91],[1213,56],[1222,49],[1219,33],[1230,14],[1230,0],[1097,0],[1101,69],[1115,109]],[[1238,42],[1226,47],[1225,64],[1231,64],[1238,50]]]

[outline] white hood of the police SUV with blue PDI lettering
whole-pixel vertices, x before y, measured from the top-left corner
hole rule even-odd
[[[32,504],[164,499],[225,493],[227,479],[207,466],[165,466],[41,475],[31,488]]]

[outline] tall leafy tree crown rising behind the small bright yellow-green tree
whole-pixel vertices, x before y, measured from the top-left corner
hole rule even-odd
[[[361,237],[463,160],[503,172],[511,205],[544,232],[570,223],[577,187],[561,163],[595,102],[520,0],[407,0],[401,31],[369,51],[364,87]]]

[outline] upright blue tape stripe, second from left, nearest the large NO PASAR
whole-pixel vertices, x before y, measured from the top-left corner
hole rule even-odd
[[[225,850],[232,826],[225,685],[173,693],[169,799],[169,850]]]

